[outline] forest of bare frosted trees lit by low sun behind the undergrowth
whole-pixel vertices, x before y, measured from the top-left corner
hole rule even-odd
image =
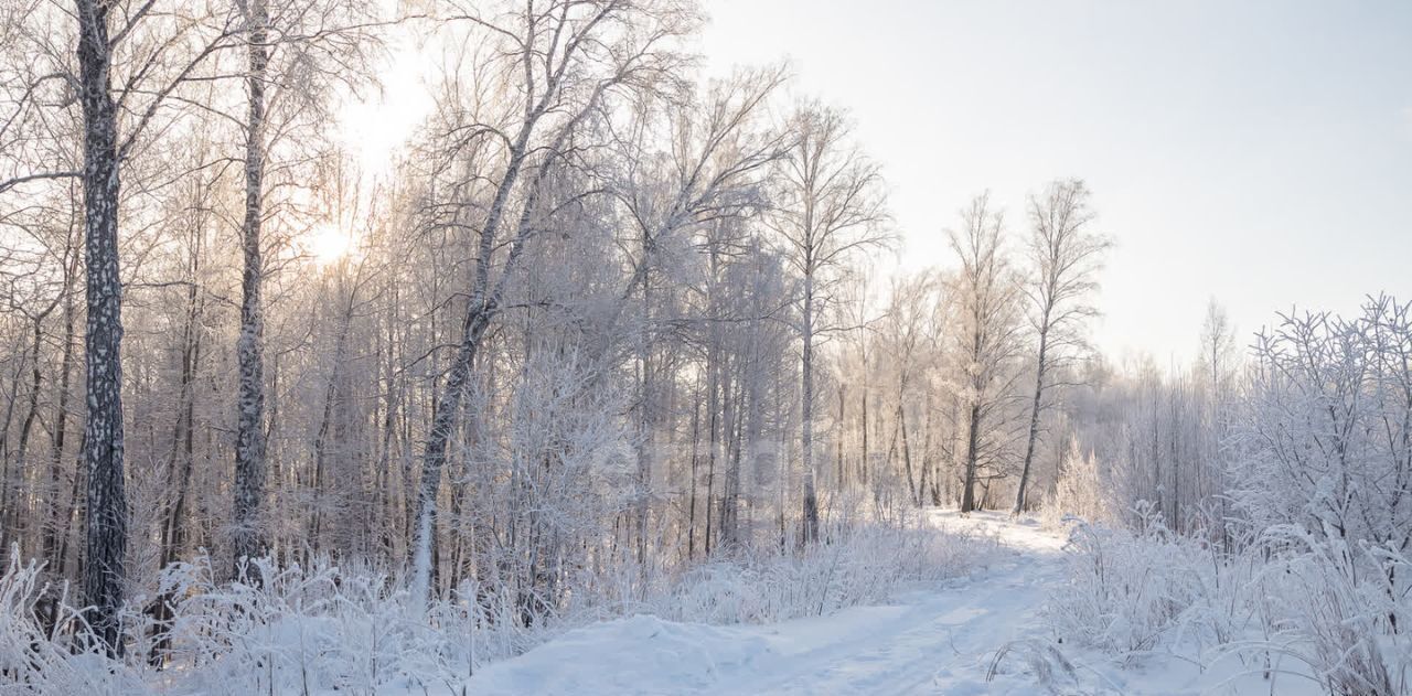
[[[849,112],[779,66],[705,78],[690,3],[384,10],[0,11],[0,548],[41,563],[48,635],[76,601],[109,655],[175,659],[121,617],[169,625],[179,563],[258,586],[332,559],[534,625],[923,507],[1145,500],[1230,544],[1258,490],[1228,479],[1323,494],[1278,457],[1227,466],[1293,436],[1274,404],[1354,368],[1406,392],[1387,299],[1372,366],[1323,316],[1251,363],[1214,302],[1193,366],[1097,354],[1113,241],[1076,178],[1017,210],[980,193],[935,220],[949,256],[880,270],[901,230]],[[435,107],[366,172],[337,117],[394,32],[438,47]],[[1337,500],[1406,546],[1408,504]]]

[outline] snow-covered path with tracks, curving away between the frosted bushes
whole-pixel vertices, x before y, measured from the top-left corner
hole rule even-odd
[[[1062,539],[1003,515],[942,524],[994,534],[988,569],[897,604],[771,625],[707,627],[633,617],[570,631],[484,669],[473,693],[1036,693],[1024,651],[993,682],[1003,645],[1043,640],[1038,616],[1060,582]]]

